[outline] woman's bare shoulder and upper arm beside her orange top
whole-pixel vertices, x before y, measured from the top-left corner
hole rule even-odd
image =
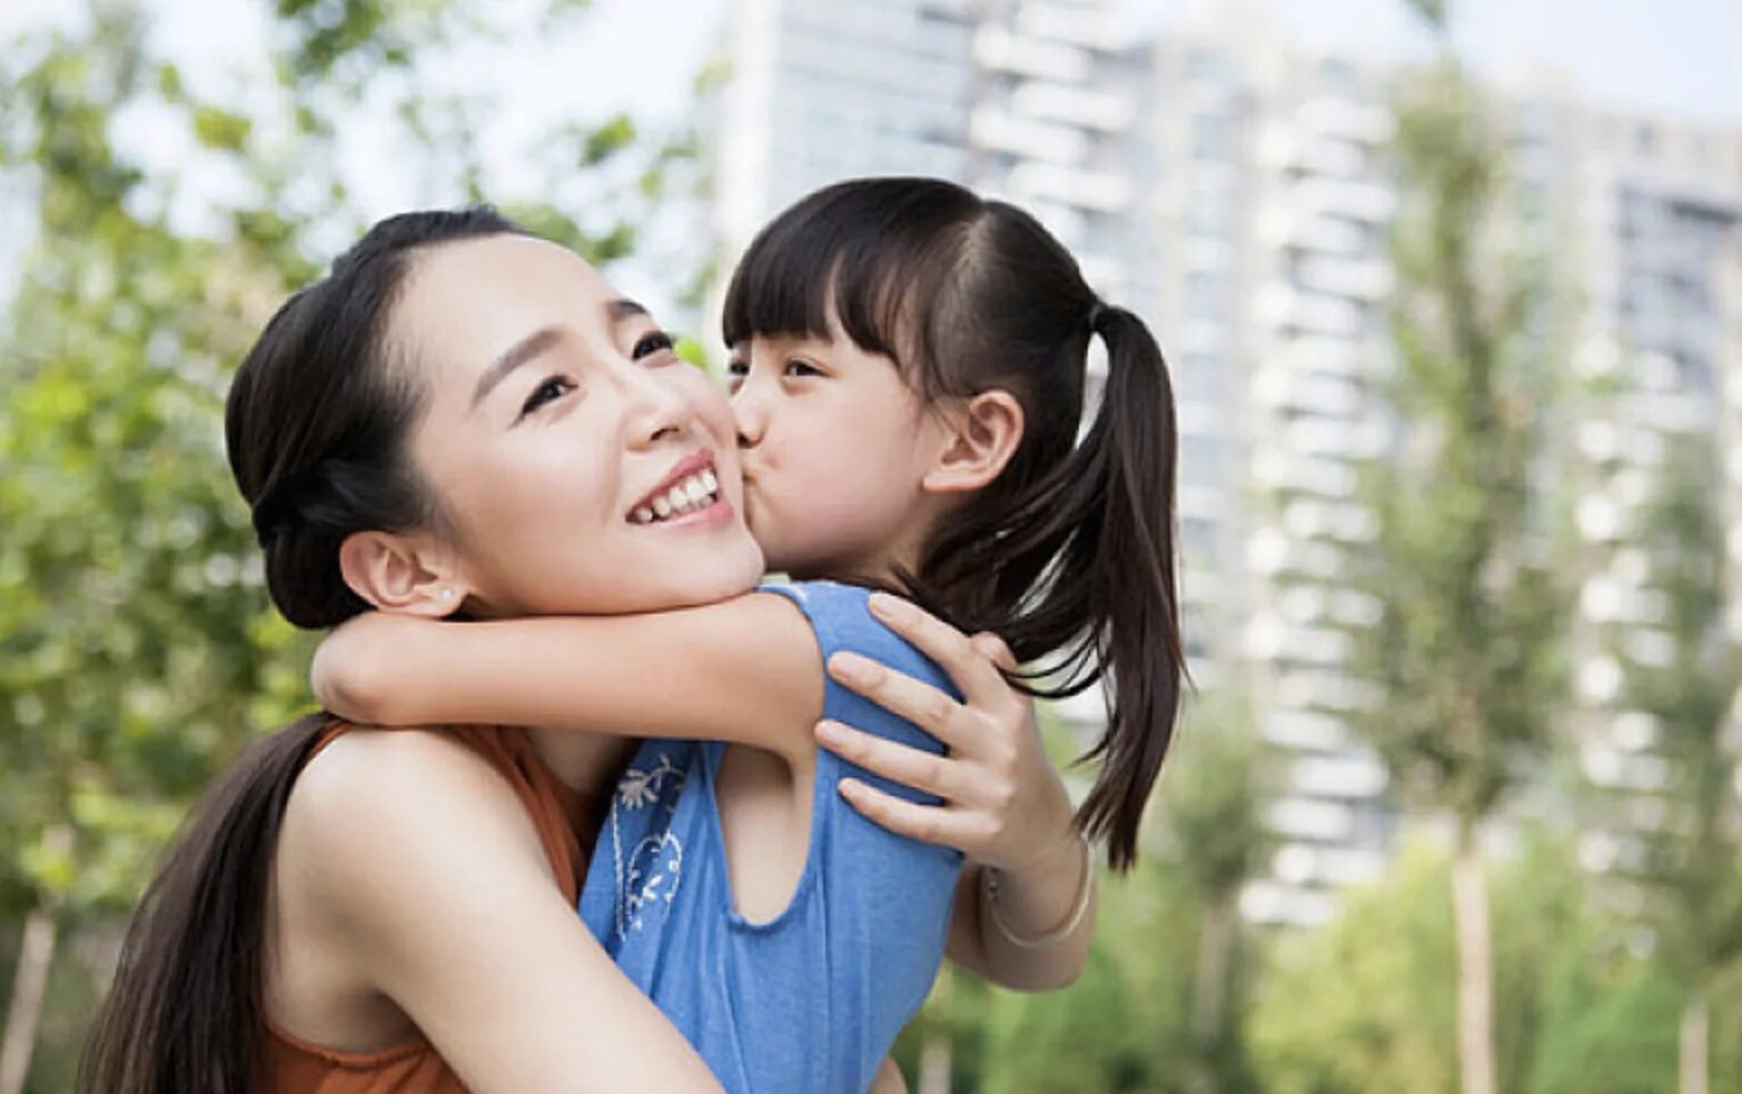
[[[291,794],[277,878],[314,944],[394,1000],[472,1091],[719,1091],[575,920],[512,789],[453,740],[329,746]]]

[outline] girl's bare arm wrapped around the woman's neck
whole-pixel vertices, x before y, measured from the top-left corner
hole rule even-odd
[[[368,611],[315,655],[315,693],[364,725],[535,725],[815,747],[822,664],[782,596],[648,615],[441,624]]]

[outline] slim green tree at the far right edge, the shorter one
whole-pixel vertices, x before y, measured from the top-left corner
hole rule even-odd
[[[1657,941],[1683,984],[1683,1094],[1707,1094],[1714,981],[1742,955],[1742,765],[1733,709],[1742,645],[1728,627],[1732,603],[1723,519],[1723,474],[1714,446],[1679,437],[1662,493],[1648,509],[1643,545],[1662,596],[1662,664],[1624,650],[1629,706],[1655,719],[1667,779],[1651,794],[1660,820],[1632,833],[1636,880],[1650,887]]]

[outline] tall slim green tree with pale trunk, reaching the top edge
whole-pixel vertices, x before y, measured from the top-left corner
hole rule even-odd
[[[1568,598],[1533,521],[1547,505],[1540,279],[1500,251],[1505,141],[1444,42],[1439,3],[1416,7],[1441,57],[1395,108],[1399,219],[1392,301],[1404,429],[1376,465],[1380,537],[1364,584],[1378,625],[1361,660],[1380,702],[1362,718],[1394,787],[1455,822],[1458,1075],[1496,1089],[1493,941],[1479,833],[1549,744]]]

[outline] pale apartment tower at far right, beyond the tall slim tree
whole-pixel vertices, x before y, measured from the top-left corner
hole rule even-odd
[[[1622,658],[1662,664],[1671,653],[1636,533],[1676,439],[1714,448],[1730,559],[1742,571],[1742,127],[1608,111],[1580,122],[1589,307],[1575,366],[1606,388],[1577,429],[1577,526],[1589,550],[1573,646],[1577,732],[1582,773],[1606,800],[1583,826],[1580,859],[1627,875],[1643,862],[1641,836],[1669,819],[1660,728],[1627,709]],[[1732,632],[1742,638],[1739,592]]]

